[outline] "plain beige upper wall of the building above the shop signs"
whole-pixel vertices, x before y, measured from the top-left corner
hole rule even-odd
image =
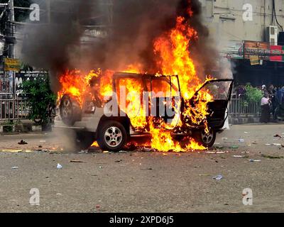
[[[200,2],[205,23],[215,39],[221,42],[266,41],[266,27],[271,26],[272,21],[272,0],[200,0]],[[253,21],[243,20],[244,4],[253,6]],[[284,0],[275,0],[275,10],[278,22],[284,26]]]

